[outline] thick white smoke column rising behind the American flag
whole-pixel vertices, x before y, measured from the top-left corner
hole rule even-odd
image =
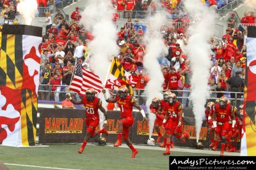
[[[118,54],[118,46],[116,45],[116,29],[113,25],[114,9],[111,6],[111,1],[90,0],[88,6],[82,13],[81,22],[86,29],[92,32],[93,40],[88,43],[92,53],[92,58],[89,60],[90,69],[99,75],[102,83],[106,80],[110,59],[113,55]],[[103,99],[102,106],[106,108],[107,103]],[[100,114],[102,120],[102,114]],[[102,127],[102,122],[100,127]]]

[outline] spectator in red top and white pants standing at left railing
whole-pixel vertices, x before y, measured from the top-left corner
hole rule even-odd
[[[54,73],[52,74],[50,84],[52,85],[52,91],[54,91],[54,101],[60,101],[60,85],[62,81],[62,75],[60,73],[60,69],[54,69]]]

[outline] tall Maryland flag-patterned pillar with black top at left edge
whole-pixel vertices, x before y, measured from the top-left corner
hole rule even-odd
[[[42,27],[3,25],[0,145],[35,145],[41,41]]]

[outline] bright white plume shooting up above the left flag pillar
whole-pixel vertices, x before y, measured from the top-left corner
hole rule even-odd
[[[22,0],[17,5],[17,11],[25,20],[26,25],[31,25],[32,19],[35,18],[38,4],[36,0]]]

